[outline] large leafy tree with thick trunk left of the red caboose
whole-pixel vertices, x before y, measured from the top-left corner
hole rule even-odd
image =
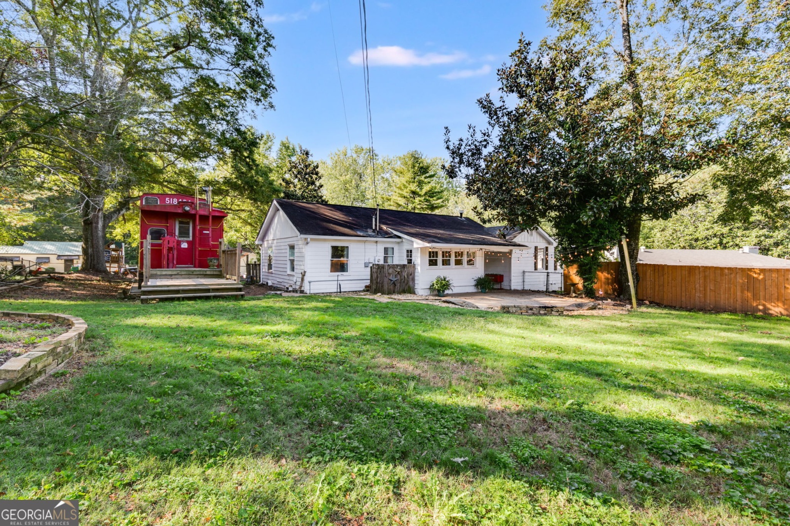
[[[36,130],[28,155],[80,197],[85,269],[106,272],[105,231],[138,188],[249,146],[241,116],[268,107],[273,89],[259,8],[259,0],[0,2],[13,15],[11,35],[39,53],[40,107],[62,117]]]

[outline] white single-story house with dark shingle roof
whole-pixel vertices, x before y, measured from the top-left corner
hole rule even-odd
[[[415,265],[415,291],[436,276],[453,292],[475,291],[483,274],[502,288],[559,290],[555,241],[542,229],[483,227],[464,216],[275,199],[256,243],[261,283],[306,292],[361,291],[372,263]]]

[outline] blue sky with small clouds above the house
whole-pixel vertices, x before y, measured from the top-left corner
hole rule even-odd
[[[444,156],[453,136],[483,124],[478,97],[496,89],[495,70],[524,32],[533,42],[550,31],[543,2],[388,0],[367,2],[374,148],[382,155],[417,149]],[[340,63],[348,133],[333,46]],[[290,138],[317,159],[351,144],[367,145],[356,0],[271,0],[263,9],[275,37],[270,65],[276,109],[254,125]]]

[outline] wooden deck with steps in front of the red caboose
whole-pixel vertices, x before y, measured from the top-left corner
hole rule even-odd
[[[227,280],[220,269],[151,269],[148,283],[133,287],[143,303],[160,299],[198,299],[244,296],[244,285]]]

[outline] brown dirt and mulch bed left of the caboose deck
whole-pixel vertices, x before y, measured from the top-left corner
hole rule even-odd
[[[58,275],[56,279],[41,280],[35,284],[4,292],[2,299],[62,299],[66,301],[95,301],[116,299],[119,292],[130,287],[132,280],[110,279],[109,276],[77,272]],[[61,279],[62,278],[62,279]]]

